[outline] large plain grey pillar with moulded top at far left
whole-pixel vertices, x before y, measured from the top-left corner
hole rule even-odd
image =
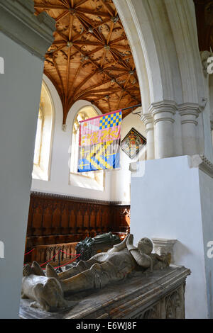
[[[32,0],[0,0],[0,317],[18,318],[45,52],[55,21]]]

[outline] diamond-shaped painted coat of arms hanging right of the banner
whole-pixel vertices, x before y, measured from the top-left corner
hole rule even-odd
[[[129,133],[121,142],[121,149],[131,158],[136,157],[143,145],[146,145],[146,137],[143,137],[137,130],[131,128]]]

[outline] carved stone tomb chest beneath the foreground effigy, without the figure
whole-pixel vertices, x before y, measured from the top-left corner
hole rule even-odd
[[[23,319],[166,319],[185,318],[185,280],[190,270],[169,267],[153,273],[136,272],[131,278],[101,290],[87,290],[67,297],[76,301],[70,309],[51,313],[21,300]]]

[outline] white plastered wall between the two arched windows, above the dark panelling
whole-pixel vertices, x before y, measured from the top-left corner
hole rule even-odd
[[[49,181],[32,180],[31,191],[45,193],[56,193],[79,198],[94,198],[110,201],[110,174],[106,174],[104,191],[97,191],[90,188],[70,185],[70,145],[72,144],[72,126],[78,111],[84,106],[91,105],[87,101],[77,101],[67,115],[66,130],[62,130],[62,103],[58,92],[48,77],[43,77],[45,84],[53,99],[54,123],[53,123],[53,143],[50,161]],[[100,111],[96,108],[97,112]]]

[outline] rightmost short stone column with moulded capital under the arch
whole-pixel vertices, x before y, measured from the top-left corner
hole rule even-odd
[[[178,109],[181,115],[183,154],[197,154],[196,119],[201,112],[200,106],[195,103],[184,103]]]

